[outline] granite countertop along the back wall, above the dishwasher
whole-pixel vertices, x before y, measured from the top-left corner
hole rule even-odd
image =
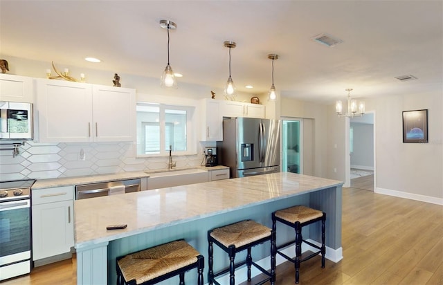
[[[44,189],[51,187],[61,187],[61,186],[73,186],[89,183],[100,183],[107,181],[125,180],[125,179],[135,179],[149,177],[150,173],[158,172],[174,172],[183,169],[199,168],[206,171],[213,171],[219,169],[229,169],[229,167],[224,165],[217,165],[213,167],[183,167],[183,168],[173,168],[168,169],[158,169],[158,170],[145,170],[139,172],[120,172],[115,174],[100,174],[100,175],[90,175],[90,176],[75,176],[75,177],[63,177],[63,178],[49,178],[49,179],[37,179],[35,181],[32,189]]]

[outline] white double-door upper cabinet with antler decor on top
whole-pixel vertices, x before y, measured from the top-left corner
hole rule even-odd
[[[39,142],[134,141],[134,89],[37,79]]]

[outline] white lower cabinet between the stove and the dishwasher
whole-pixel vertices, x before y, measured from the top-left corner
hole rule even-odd
[[[73,186],[33,190],[33,261],[74,246]]]

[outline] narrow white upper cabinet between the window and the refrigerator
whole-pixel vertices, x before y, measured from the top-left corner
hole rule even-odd
[[[223,115],[220,100],[201,100],[201,141],[223,140]]]

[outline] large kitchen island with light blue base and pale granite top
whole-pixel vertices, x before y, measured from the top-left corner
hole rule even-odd
[[[271,212],[293,205],[326,212],[327,258],[336,262],[342,258],[342,184],[280,172],[75,201],[77,282],[115,284],[116,257],[182,238],[205,256],[206,276],[209,229],[242,219],[271,227]],[[127,224],[125,230],[106,230],[122,223]],[[303,234],[320,241],[314,225]],[[293,235],[278,227],[278,244]],[[254,248],[253,256],[266,259],[269,250],[264,248]],[[224,259],[217,264],[224,266]],[[195,275],[186,278],[195,283]]]

